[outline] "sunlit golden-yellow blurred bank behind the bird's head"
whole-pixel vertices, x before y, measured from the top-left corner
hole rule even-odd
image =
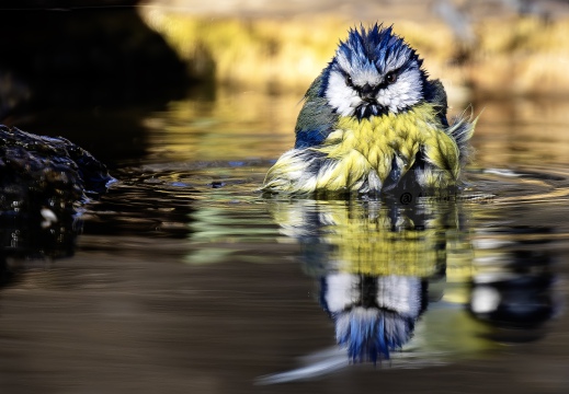
[[[452,89],[564,93],[567,1],[147,1],[144,20],[192,73],[230,84],[304,90],[360,23],[394,25]],[[254,70],[254,71],[253,71]]]

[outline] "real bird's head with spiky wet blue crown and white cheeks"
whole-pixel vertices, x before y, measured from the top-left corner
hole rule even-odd
[[[352,28],[325,69],[319,94],[342,116],[361,120],[397,114],[423,99],[426,74],[421,63],[391,27]]]

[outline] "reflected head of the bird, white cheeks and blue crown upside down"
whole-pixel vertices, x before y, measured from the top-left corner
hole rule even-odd
[[[335,338],[355,361],[389,358],[411,338],[426,305],[417,277],[331,274],[322,278],[321,302],[335,324]]]

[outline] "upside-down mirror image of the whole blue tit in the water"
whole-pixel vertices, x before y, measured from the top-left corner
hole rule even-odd
[[[429,280],[445,276],[447,232],[460,227],[456,205],[296,200],[272,207],[283,232],[299,241],[351,360],[388,359],[411,339]]]

